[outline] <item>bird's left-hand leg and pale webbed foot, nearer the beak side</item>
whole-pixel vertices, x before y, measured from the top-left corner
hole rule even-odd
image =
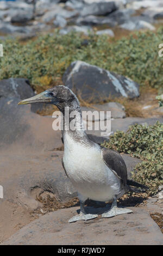
[[[97,214],[86,214],[84,210],[84,202],[80,201],[80,214],[73,216],[68,222],[75,222],[75,221],[88,221],[92,218],[97,218]]]

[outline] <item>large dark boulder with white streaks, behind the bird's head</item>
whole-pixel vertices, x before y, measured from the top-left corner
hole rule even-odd
[[[139,96],[139,84],[129,78],[79,60],[71,63],[63,81],[65,86],[89,102],[98,102],[110,95],[129,98]]]

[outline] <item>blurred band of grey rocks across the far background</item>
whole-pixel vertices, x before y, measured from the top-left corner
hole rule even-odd
[[[70,31],[114,36],[117,28],[126,31],[149,29],[162,22],[160,0],[27,0],[1,1],[0,35],[21,38],[59,28]],[[116,29],[115,29],[116,28]],[[116,32],[115,32],[116,33]]]

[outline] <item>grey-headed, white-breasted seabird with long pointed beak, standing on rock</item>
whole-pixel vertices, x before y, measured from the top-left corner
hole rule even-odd
[[[102,215],[104,218],[132,212],[130,209],[117,208],[117,198],[128,191],[144,192],[148,188],[127,179],[126,164],[120,154],[114,150],[102,148],[87,137],[81,122],[82,111],[79,101],[72,90],[65,86],[55,86],[29,99],[22,100],[18,104],[36,102],[51,103],[57,106],[63,114],[62,166],[77,189],[80,200],[80,214],[72,217],[69,222],[90,220],[98,216],[86,214],[84,202],[87,198],[102,202],[112,201],[111,209]],[[76,130],[67,129],[69,124],[65,121],[65,107],[69,108],[70,115],[72,111],[79,113],[80,118],[76,119]]]

